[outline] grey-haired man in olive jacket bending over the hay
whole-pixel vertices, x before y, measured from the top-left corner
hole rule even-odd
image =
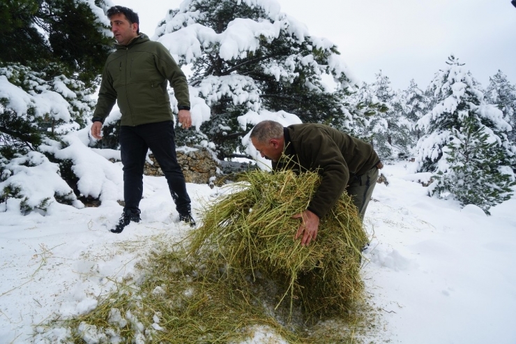
[[[321,185],[308,209],[294,218],[303,223],[296,239],[301,244],[316,239],[319,219],[347,191],[363,219],[365,209],[383,167],[372,145],[322,124],[295,124],[284,128],[276,121],[261,121],[250,135],[262,157],[273,161],[274,170],[284,168],[317,171]]]

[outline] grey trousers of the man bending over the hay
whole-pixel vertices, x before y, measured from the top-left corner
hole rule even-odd
[[[372,190],[377,185],[378,173],[378,168],[374,166],[361,176],[355,176],[354,174],[349,176],[349,185],[346,191],[351,196],[353,204],[356,205],[362,220],[364,220],[365,209],[367,209],[367,204],[371,199]]]

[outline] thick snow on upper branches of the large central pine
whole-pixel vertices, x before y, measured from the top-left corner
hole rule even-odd
[[[170,51],[174,59],[180,63],[192,63],[195,59],[202,57],[203,49],[206,51],[217,51],[218,56],[223,60],[238,59],[247,57],[248,53],[256,52],[264,43],[271,43],[277,39],[282,31],[289,36],[289,39],[297,43],[308,43],[319,50],[330,50],[335,44],[327,38],[317,38],[310,36],[308,27],[299,22],[294,17],[285,13],[280,13],[280,4],[275,0],[247,0],[237,1],[246,3],[249,6],[261,8],[264,11],[264,18],[259,21],[248,18],[236,18],[229,22],[227,28],[217,33],[210,27],[205,27],[199,22],[204,19],[205,13],[200,10],[192,11],[192,0],[185,0],[177,10],[168,13],[162,24],[155,30],[151,39],[158,40]],[[347,64],[344,63],[340,54],[331,52],[328,54],[328,66],[319,66],[313,57],[305,57],[306,61],[301,61],[303,65],[313,65],[314,69],[328,67],[328,72],[335,75],[335,79],[345,77],[340,80],[342,87],[348,85],[358,85],[358,80],[349,72]],[[268,73],[275,75],[278,80],[279,75],[291,80],[293,73],[291,61],[287,59],[286,64],[281,66],[278,61],[269,62]]]

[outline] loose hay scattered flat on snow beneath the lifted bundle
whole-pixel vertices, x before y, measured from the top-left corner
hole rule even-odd
[[[361,343],[374,315],[367,304],[320,322],[301,317],[287,322],[273,311],[272,281],[242,281],[227,270],[209,271],[218,262],[192,259],[179,246],[154,249],[142,264],[142,284],[123,283],[103,297],[91,313],[47,327],[70,330],[67,343],[243,343],[255,331],[267,343]],[[233,277],[231,277],[233,276]],[[280,307],[281,308],[281,307]]]

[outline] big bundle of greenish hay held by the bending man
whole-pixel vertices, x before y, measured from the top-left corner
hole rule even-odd
[[[362,297],[361,248],[367,242],[348,195],[319,224],[317,240],[294,240],[319,174],[291,170],[248,172],[232,192],[206,205],[202,227],[190,234],[190,254],[219,260],[233,273],[271,278],[280,285],[278,306],[301,301],[308,317],[348,311]],[[209,257],[209,258],[208,258]],[[287,297],[288,295],[288,297]]]

